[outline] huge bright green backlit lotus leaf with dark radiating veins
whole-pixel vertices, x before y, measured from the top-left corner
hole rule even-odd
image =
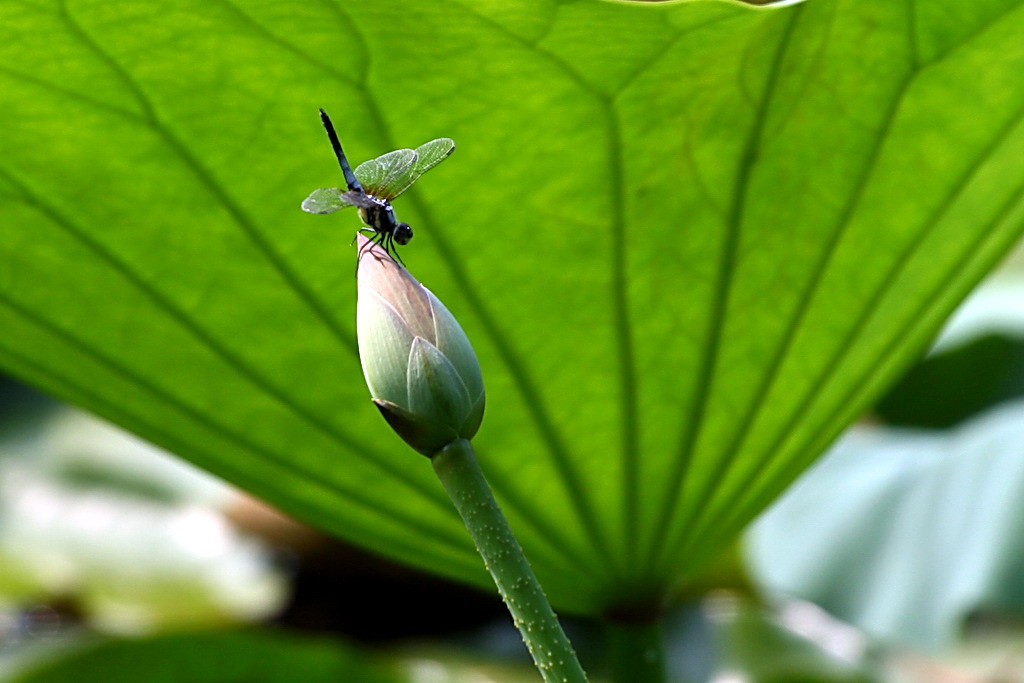
[[[402,254],[480,355],[543,583],[664,595],[927,344],[1022,228],[1024,2],[0,5],[0,365],[282,507],[487,582],[387,433],[357,219],[451,136]]]

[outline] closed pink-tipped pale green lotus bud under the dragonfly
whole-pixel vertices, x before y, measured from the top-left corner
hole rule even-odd
[[[471,439],[483,419],[483,378],[466,333],[383,249],[361,236],[358,246],[355,329],[374,403],[427,457]]]

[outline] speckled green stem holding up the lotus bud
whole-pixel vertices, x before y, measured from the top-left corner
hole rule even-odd
[[[580,667],[572,644],[505,521],[476,462],[473,446],[466,439],[459,439],[430,462],[473,537],[483,565],[512,612],[512,621],[541,676],[549,683],[585,683],[587,675]]]

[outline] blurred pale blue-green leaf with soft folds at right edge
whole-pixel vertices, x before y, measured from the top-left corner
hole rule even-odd
[[[949,433],[854,430],[755,525],[754,571],[877,638],[948,646],[978,611],[1024,611],[1022,456],[1022,401]]]

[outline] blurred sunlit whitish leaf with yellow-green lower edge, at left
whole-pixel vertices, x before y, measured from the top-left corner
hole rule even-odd
[[[116,634],[281,610],[287,579],[230,523],[222,482],[79,413],[38,431],[0,441],[0,608],[68,605]]]

